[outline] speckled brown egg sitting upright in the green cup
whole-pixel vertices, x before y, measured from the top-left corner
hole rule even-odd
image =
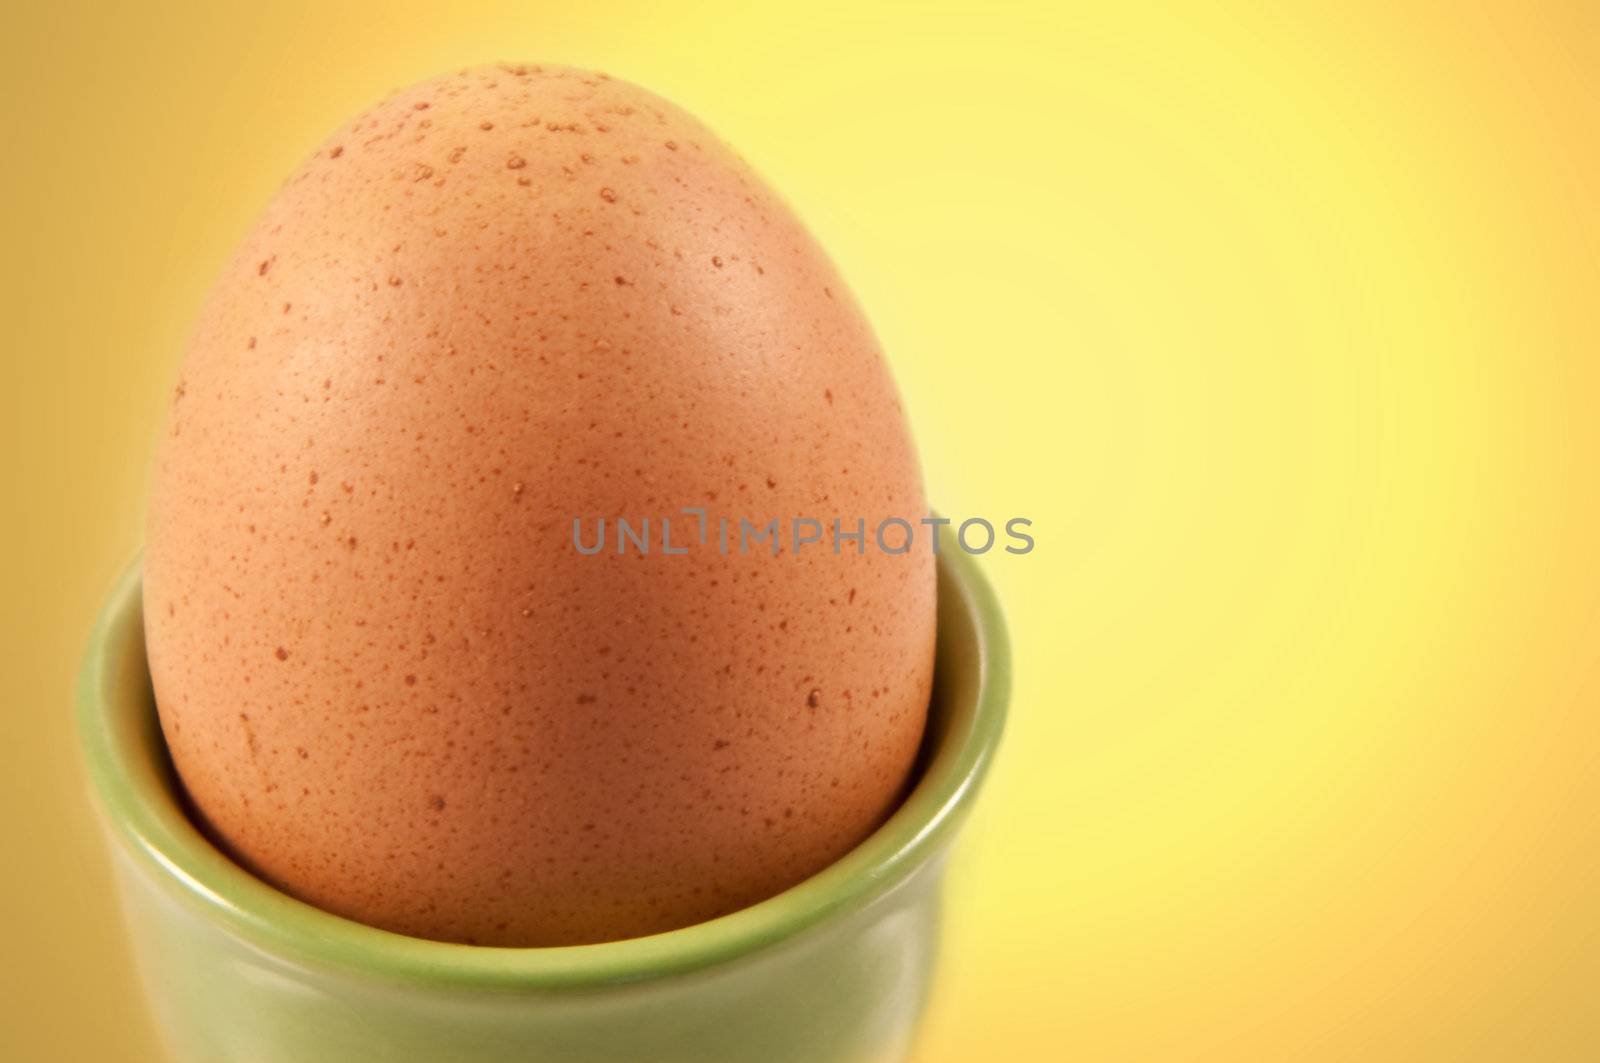
[[[162,727],[218,842],[328,911],[682,927],[893,810],[934,578],[874,530],[925,512],[866,319],[749,166],[605,75],[466,70],[331,138],[206,303],[144,560]]]

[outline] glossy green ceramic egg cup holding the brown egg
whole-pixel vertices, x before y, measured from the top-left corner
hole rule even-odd
[[[144,658],[141,570],[101,613],[80,740],[123,911],[174,1060],[901,1060],[933,975],[939,882],[1005,722],[994,592],[946,541],[928,728],[904,802],[798,885],[718,919],[560,948],[450,945],[298,901],[194,826]]]

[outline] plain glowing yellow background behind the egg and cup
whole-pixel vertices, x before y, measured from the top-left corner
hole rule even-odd
[[[922,1063],[1595,1058],[1600,16],[1274,6],[10,11],[0,1058],[155,1058],[69,688],[198,301],[330,130],[490,59],[707,120],[936,503],[1035,522]]]

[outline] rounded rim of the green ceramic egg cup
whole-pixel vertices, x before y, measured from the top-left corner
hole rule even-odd
[[[939,660],[947,637],[965,636],[974,644],[968,653],[976,682],[960,682],[963,688],[949,695],[958,701],[947,709],[944,733],[931,743],[904,802],[856,848],[782,893],[664,933],[546,948],[432,941],[334,916],[243,869],[194,826],[174,797],[149,695],[139,560],[117,583],[90,637],[78,672],[78,738],[102,818],[142,871],[206,921],[270,954],[461,988],[581,989],[685,973],[864,908],[931,860],[971,805],[1005,724],[1010,647],[978,564],[949,548],[938,562]],[[965,632],[946,632],[947,618]],[[130,704],[134,698],[138,706]]]

